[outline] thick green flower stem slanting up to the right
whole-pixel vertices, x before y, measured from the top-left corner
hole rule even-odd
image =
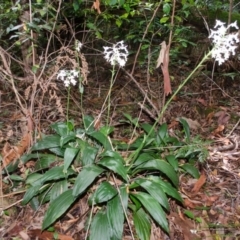
[[[201,62],[197,65],[197,67],[188,75],[188,77],[179,85],[178,89],[174,92],[174,94],[171,96],[171,98],[169,98],[169,100],[166,102],[166,104],[163,106],[162,111],[159,113],[157,120],[155,121],[155,123],[153,124],[152,128],[150,129],[149,133],[144,136],[144,139],[142,141],[142,144],[139,146],[139,148],[133,152],[130,156],[129,156],[129,160],[127,161],[127,163],[133,163],[136,158],[138,157],[140,151],[143,149],[143,147],[145,146],[147,139],[151,136],[152,132],[154,131],[154,129],[156,128],[157,124],[159,123],[160,119],[163,117],[163,114],[165,113],[166,109],[168,108],[169,104],[172,102],[172,100],[174,99],[174,97],[179,93],[179,91],[184,87],[184,85],[188,82],[188,80],[193,76],[193,74],[202,66],[202,64],[209,58],[209,56],[211,55],[211,51],[205,55],[203,57],[203,59],[201,60]]]

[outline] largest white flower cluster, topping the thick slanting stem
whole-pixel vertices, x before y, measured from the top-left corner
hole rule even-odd
[[[234,22],[227,27],[225,23],[217,20],[214,28],[217,30],[211,30],[209,38],[212,38],[214,47],[212,49],[212,57],[221,65],[229,59],[230,55],[235,55],[237,48],[236,43],[239,42],[238,32],[227,34],[230,27],[238,29],[237,22]]]

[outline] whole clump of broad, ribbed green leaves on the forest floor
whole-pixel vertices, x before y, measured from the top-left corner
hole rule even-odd
[[[133,121],[130,116],[126,117]],[[191,151],[182,154],[189,141],[185,144],[170,137],[166,124],[146,138],[145,133],[150,133],[152,126],[134,121],[145,133],[130,145],[118,142],[113,145],[109,137],[112,128],[95,130],[91,120],[86,116],[85,128],[77,129],[72,123],[53,124],[55,134],[44,136],[32,147],[32,153],[22,158],[24,163],[36,158],[36,170],[41,169],[40,173],[28,175],[28,189],[22,203],[30,202],[37,208],[40,202],[50,202],[43,220],[44,230],[66,213],[76,199],[90,194],[90,207],[101,208],[91,213],[89,239],[96,239],[96,236],[100,240],[121,239],[124,223],[130,215],[140,239],[149,239],[153,220],[168,233],[168,197],[182,202],[178,193],[178,172],[186,171],[199,177],[194,167],[196,161],[188,158]],[[190,138],[185,122],[183,127],[186,139]],[[128,148],[137,155],[124,158],[122,153]],[[179,164],[179,158],[185,159],[185,164]]]

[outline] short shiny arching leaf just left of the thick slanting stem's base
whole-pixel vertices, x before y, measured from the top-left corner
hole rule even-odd
[[[112,170],[127,181],[127,171],[119,158],[104,157],[99,162],[100,165]]]

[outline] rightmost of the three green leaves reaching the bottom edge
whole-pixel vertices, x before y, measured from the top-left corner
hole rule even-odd
[[[133,213],[133,222],[139,239],[149,240],[151,234],[151,222],[142,208]]]

